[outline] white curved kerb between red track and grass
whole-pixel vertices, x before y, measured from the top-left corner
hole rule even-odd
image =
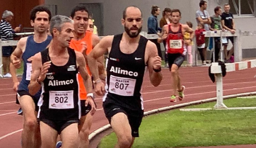
[[[234,94],[234,95],[226,95],[226,96],[223,96],[223,99],[230,99],[230,98],[236,98],[236,97],[239,97],[239,96],[250,96],[250,95],[256,95],[256,91],[246,92],[246,93],[241,93],[241,94]],[[217,100],[217,97],[204,99],[204,100],[197,100],[197,101],[192,101],[192,102],[187,102],[187,103],[182,103],[182,104],[177,104],[177,105],[171,105],[171,106],[167,106],[167,107],[161,107],[159,109],[153,109],[153,110],[144,112],[144,116],[159,113],[161,111],[177,109],[177,108],[180,108],[180,107],[186,107],[186,106],[190,106],[190,105],[197,105],[197,104],[201,104],[201,103],[213,102],[213,101],[216,101],[216,100]],[[111,127],[110,124],[107,124],[105,126],[102,126],[99,129],[95,130],[94,132],[89,134],[89,140],[91,140],[92,138],[94,138],[99,133],[103,132],[104,130],[109,129],[110,127]]]

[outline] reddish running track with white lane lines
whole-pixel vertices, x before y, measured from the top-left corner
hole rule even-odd
[[[182,85],[186,86],[183,101],[170,103],[168,98],[171,90],[171,74],[168,69],[162,70],[163,80],[158,87],[150,84],[146,73],[142,94],[145,111],[160,107],[191,102],[194,100],[216,97],[216,83],[208,76],[208,67],[180,68]],[[229,72],[223,78],[224,95],[256,91],[255,69]],[[102,100],[96,97],[98,111],[93,119],[91,132],[108,124],[102,110]],[[21,148],[21,130],[23,117],[17,115],[19,106],[15,104],[15,92],[12,90],[11,79],[0,79],[0,148]]]

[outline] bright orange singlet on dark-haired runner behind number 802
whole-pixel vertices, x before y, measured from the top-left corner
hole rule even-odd
[[[90,31],[86,31],[86,34],[83,39],[76,41],[74,39],[71,40],[69,47],[76,50],[77,52],[81,52],[83,49],[82,42],[85,42],[87,45],[86,55],[88,55],[92,51],[92,35],[93,33]],[[91,72],[89,71],[88,65],[86,65],[88,74],[91,76]],[[78,84],[79,84],[79,91],[80,91],[80,99],[86,100],[87,99],[87,92],[84,86],[83,78],[80,74],[78,74]]]

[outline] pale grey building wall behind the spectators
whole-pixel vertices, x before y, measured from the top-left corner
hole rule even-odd
[[[208,1],[208,12],[213,15],[213,9],[217,6],[223,6],[228,3],[228,0],[206,0]],[[129,5],[138,6],[143,13],[143,29],[147,31],[147,18],[150,16],[150,10],[152,5],[158,5],[161,11],[165,7],[179,8],[182,12],[181,23],[191,21],[194,24],[194,29],[197,26],[195,20],[195,11],[199,10],[199,0],[45,0],[45,4],[58,5],[58,14],[70,15],[72,8],[80,3],[102,3],[103,4],[103,26],[104,35],[111,35],[123,32],[123,26],[121,25],[122,11]],[[94,14],[96,15],[96,14]],[[158,16],[158,20],[162,15]],[[253,31],[255,29],[256,18],[235,18],[235,24],[237,29],[242,31]],[[250,49],[256,48],[255,37],[242,37],[242,48]]]

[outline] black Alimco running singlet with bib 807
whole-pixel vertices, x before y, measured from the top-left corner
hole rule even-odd
[[[114,35],[107,59],[107,93],[103,101],[111,99],[123,107],[141,110],[143,100],[140,90],[145,73],[145,49],[148,40],[140,36],[135,52],[125,54],[119,47],[121,39],[122,34]]]

